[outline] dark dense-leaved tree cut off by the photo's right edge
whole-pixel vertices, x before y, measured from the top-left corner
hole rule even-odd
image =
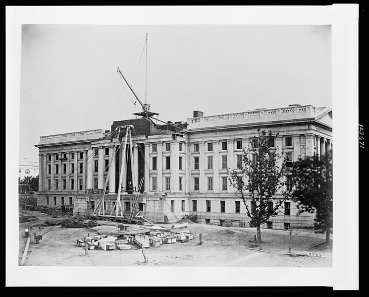
[[[327,152],[319,158],[299,159],[293,164],[292,179],[295,190],[292,198],[298,201],[299,214],[315,213],[314,229],[317,233],[326,232],[329,241],[333,224],[333,173],[332,154]]]

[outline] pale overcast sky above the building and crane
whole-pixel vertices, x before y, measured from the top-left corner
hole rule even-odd
[[[110,129],[141,111],[117,67],[145,102],[146,33],[158,119],[332,106],[330,25],[24,24],[19,157],[38,161],[39,136]]]

